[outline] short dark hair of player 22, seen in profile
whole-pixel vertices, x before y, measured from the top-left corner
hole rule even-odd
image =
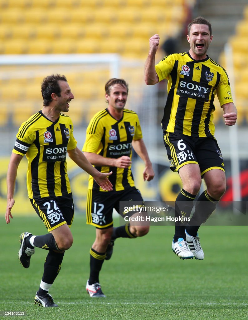
[[[60,97],[60,86],[58,81],[66,81],[67,79],[64,75],[50,75],[43,79],[41,84],[41,94],[43,97],[43,105],[49,106],[50,102],[52,101],[51,94],[55,93],[58,97]]]

